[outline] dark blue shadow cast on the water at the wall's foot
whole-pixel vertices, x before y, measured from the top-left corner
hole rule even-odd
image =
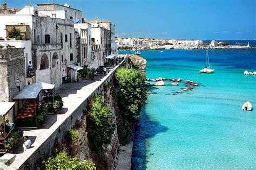
[[[168,128],[166,128],[166,126],[161,125],[159,122],[150,120],[146,115],[144,105],[134,132],[131,169],[146,169],[146,150],[150,145],[146,140],[167,130]]]

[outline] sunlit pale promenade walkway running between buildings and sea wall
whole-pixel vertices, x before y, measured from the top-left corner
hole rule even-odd
[[[119,63],[120,65],[120,63]],[[52,132],[56,131],[66,118],[68,118],[72,112],[82,103],[87,97],[89,97],[100,84],[102,84],[112,72],[119,67],[119,65],[110,69],[110,73],[106,76],[97,75],[95,80],[84,80],[75,83],[63,84],[56,90],[56,94],[60,94],[63,97],[64,107],[60,111],[60,114],[48,115],[47,119],[39,129],[24,130],[24,136],[28,136],[31,139],[31,147],[23,151],[23,139],[21,138],[18,143],[15,161],[10,165],[14,168],[19,168],[24,162],[35,152],[46,139],[48,139]],[[36,162],[35,162],[36,164]]]

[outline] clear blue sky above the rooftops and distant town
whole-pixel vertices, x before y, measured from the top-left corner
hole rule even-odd
[[[8,7],[52,0],[0,0]],[[54,0],[83,10],[86,20],[110,20],[116,36],[176,39],[256,39],[256,0]]]

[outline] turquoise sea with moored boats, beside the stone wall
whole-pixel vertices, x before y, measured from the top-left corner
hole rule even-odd
[[[146,77],[199,83],[151,87],[134,135],[132,169],[256,169],[256,48],[142,51]],[[133,53],[133,52],[119,52]],[[242,111],[250,101],[253,111]]]

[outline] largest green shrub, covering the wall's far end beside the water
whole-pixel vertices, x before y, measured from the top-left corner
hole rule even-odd
[[[118,68],[115,74],[117,105],[119,108],[118,137],[121,144],[129,141],[131,125],[139,118],[146,101],[143,75],[136,69]]]

